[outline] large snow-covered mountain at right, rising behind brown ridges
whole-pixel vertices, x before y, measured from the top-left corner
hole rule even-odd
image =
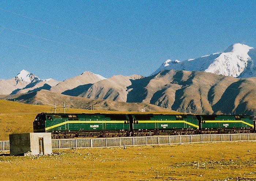
[[[151,75],[161,70],[204,71],[231,77],[256,77],[256,49],[236,43],[223,53],[205,55],[185,61],[167,60]]]

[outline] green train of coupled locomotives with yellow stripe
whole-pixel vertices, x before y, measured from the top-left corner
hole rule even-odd
[[[253,133],[256,128],[249,115],[39,113],[33,130],[60,139]]]

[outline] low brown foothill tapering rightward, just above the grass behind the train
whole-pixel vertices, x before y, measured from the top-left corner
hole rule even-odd
[[[18,101],[26,104],[53,105],[63,107],[63,102],[68,108],[94,109],[94,110],[111,110],[111,111],[171,111],[148,103],[125,103],[119,101],[102,100],[102,99],[87,99],[84,97],[74,97],[62,95],[49,90],[40,90],[38,92],[16,94],[16,95],[0,95],[0,99]],[[57,109],[59,111],[59,109]],[[63,108],[61,109],[63,110]],[[174,111],[175,112],[175,111]]]

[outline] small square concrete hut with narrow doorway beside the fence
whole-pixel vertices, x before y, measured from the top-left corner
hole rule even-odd
[[[32,155],[52,154],[51,133],[25,133],[11,134],[10,155],[24,155],[31,152]]]

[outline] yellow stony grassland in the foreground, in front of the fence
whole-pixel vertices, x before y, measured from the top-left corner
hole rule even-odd
[[[0,180],[256,180],[256,142],[56,150],[0,156]]]

